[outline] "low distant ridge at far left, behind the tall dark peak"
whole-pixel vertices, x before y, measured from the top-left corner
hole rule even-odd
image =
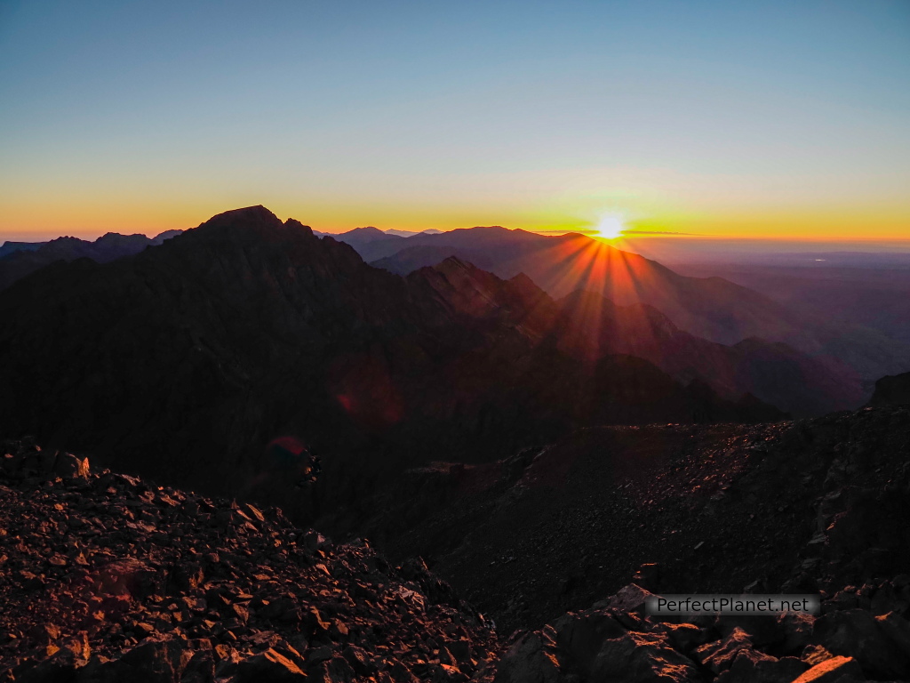
[[[161,244],[165,240],[179,235],[182,231],[166,230],[154,238],[138,234],[121,235],[116,232],[108,232],[95,241],[60,237],[49,242],[6,242],[4,248],[7,244],[27,244],[29,249],[11,250],[0,258],[0,290],[56,260],[91,259],[96,263],[106,263],[123,256],[136,254],[148,246]]]

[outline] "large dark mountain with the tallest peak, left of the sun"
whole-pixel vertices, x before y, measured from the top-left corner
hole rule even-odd
[[[396,463],[483,459],[576,425],[781,416],[639,358],[540,343],[541,300],[527,278],[457,261],[402,279],[298,221],[229,211],[0,292],[0,429],[223,491],[255,488],[266,445],[293,435],[348,468],[349,493]]]

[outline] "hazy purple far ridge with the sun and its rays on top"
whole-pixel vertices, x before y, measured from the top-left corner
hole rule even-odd
[[[785,342],[826,363],[844,382],[869,381],[868,390],[876,377],[910,364],[904,347],[882,343],[863,328],[829,321],[824,311],[794,311],[729,280],[686,277],[578,234],[547,237],[519,229],[471,228],[417,236],[403,245],[379,243],[363,253],[383,253],[371,264],[399,274],[457,256],[503,278],[523,272],[555,297],[585,290],[620,305],[650,304],[682,330],[713,342],[734,344],[752,337]]]

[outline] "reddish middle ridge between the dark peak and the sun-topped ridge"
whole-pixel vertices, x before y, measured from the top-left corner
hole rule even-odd
[[[651,306],[617,306],[587,291],[553,301],[523,274],[499,280],[455,257],[414,274],[434,283],[452,305],[474,315],[489,315],[495,308],[503,321],[541,347],[566,353],[586,366],[604,356],[632,355],[685,384],[710,384],[731,400],[751,393],[798,416],[843,410],[862,401],[857,384],[842,381],[823,363],[782,343],[708,342],[679,330]]]

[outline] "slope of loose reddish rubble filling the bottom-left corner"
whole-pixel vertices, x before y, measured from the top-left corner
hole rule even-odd
[[[5,444],[0,680],[491,677],[483,617],[420,561]]]

